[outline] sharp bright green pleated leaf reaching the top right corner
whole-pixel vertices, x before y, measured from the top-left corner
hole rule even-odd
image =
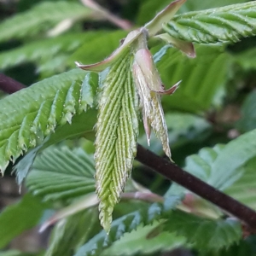
[[[197,44],[235,43],[256,35],[256,2],[177,15],[163,29],[173,38]]]

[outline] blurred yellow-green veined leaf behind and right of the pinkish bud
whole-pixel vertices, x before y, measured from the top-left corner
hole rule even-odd
[[[164,108],[191,113],[220,105],[230,75],[231,56],[220,46],[201,45],[195,49],[195,59],[189,59],[177,49],[168,49],[157,63],[166,88],[182,80],[172,96],[163,96]]]

